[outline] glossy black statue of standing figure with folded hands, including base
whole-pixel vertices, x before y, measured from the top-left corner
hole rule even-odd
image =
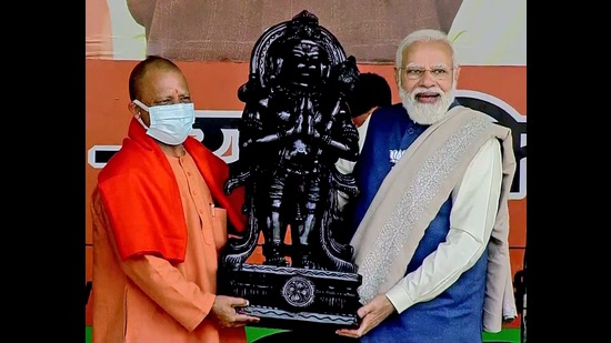
[[[352,248],[333,234],[342,230],[338,191],[358,193],[334,167],[359,154],[345,102],[358,74],[354,58],[308,11],[268,29],[252,51],[238,90],[239,160],[224,188],[246,186],[248,224],[221,254],[219,292],[249,299],[244,311],[261,325],[358,324],[361,278]],[[263,265],[247,264],[260,233]]]

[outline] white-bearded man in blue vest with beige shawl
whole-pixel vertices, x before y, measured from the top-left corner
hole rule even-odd
[[[517,315],[508,200],[511,132],[454,101],[452,42],[418,30],[397,50],[402,103],[378,109],[353,174],[350,244],[361,342],[481,342]]]

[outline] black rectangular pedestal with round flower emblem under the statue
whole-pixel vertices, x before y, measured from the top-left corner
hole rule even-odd
[[[241,311],[261,319],[256,326],[334,331],[359,326],[361,282],[357,273],[243,263],[219,274],[218,290],[248,299]]]

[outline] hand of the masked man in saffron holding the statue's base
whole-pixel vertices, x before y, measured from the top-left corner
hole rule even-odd
[[[221,327],[239,327],[258,323],[259,317],[240,313],[239,309],[248,304],[248,300],[242,297],[217,295],[209,315]]]

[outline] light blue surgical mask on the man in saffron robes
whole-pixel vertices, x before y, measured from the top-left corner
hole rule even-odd
[[[174,103],[148,107],[139,100],[133,100],[141,109],[149,112],[151,125],[147,128],[140,118],[140,123],[147,129],[147,134],[168,145],[184,142],[196,122],[193,103]]]

